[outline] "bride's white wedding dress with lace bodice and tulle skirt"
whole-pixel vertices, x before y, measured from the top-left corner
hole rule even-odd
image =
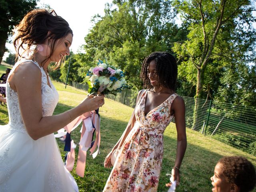
[[[10,75],[21,62],[17,62]],[[32,61],[33,62],[33,61]],[[51,116],[58,103],[58,93],[43,68],[42,114]],[[18,69],[17,69],[18,70]],[[10,76],[9,75],[9,76]],[[33,140],[20,115],[17,93],[6,84],[9,123],[0,126],[0,192],[74,192],[76,181],[62,161],[54,134]]]

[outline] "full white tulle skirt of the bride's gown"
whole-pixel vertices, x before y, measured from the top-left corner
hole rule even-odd
[[[54,134],[33,140],[0,126],[0,192],[78,192]]]

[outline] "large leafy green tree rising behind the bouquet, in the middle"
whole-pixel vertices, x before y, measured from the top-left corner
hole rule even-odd
[[[114,0],[106,5],[103,17],[92,20],[94,26],[85,37],[83,70],[106,58],[126,71],[128,84],[141,89],[144,58],[154,51],[172,52],[173,42],[184,37],[175,18],[170,0]]]

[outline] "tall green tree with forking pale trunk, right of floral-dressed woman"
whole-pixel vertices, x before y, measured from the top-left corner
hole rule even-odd
[[[196,86],[195,98],[205,98],[213,91],[212,77],[220,79],[230,62],[246,64],[254,59],[254,7],[250,0],[176,0],[176,7],[189,33],[186,41],[175,44],[174,52],[182,60],[183,74],[190,74],[187,79]],[[197,110],[196,102],[193,128],[199,128]]]

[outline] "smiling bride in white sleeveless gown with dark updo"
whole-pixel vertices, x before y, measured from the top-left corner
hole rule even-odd
[[[87,97],[52,115],[58,93],[47,68],[70,54],[72,38],[68,23],[46,10],[29,12],[16,27],[14,46],[20,58],[6,84],[9,123],[0,126],[0,192],[78,191],[53,133],[102,106],[104,96]]]

